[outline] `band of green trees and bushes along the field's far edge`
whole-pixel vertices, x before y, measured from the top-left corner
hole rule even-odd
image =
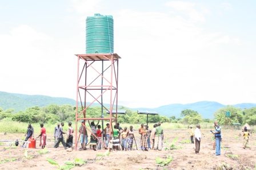
[[[137,111],[130,110],[127,107],[121,106],[121,110],[126,110],[125,115],[118,115],[118,122],[120,123],[145,123],[146,115],[137,114]],[[80,112],[81,107],[78,108]],[[17,122],[30,122],[30,123],[56,123],[56,122],[73,122],[75,121],[76,106],[72,105],[48,105],[45,107],[29,107],[25,111],[18,111],[13,113],[14,109],[3,110],[0,107],[0,120],[3,118],[10,118]],[[234,106],[227,105],[221,109],[215,111],[214,120],[219,124],[225,125],[226,111],[230,111],[231,123],[248,123],[249,125],[256,124],[256,107],[250,109],[241,109]],[[86,117],[88,118],[100,118],[101,106],[93,106],[86,109]],[[80,117],[82,118],[82,114]],[[103,110],[103,117],[109,117],[106,114],[106,110]],[[195,125],[201,122],[213,122],[214,120],[203,119],[202,115],[197,111],[185,109],[181,111],[181,118],[175,118],[170,115],[166,117],[163,115],[149,115],[149,123],[155,122],[169,122],[169,123],[184,123]]]

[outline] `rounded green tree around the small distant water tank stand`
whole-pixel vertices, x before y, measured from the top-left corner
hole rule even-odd
[[[225,117],[226,117],[226,111],[230,111],[230,120],[232,123],[243,123],[243,114],[241,108],[236,108],[231,105],[227,105],[224,108],[218,109],[214,113],[215,119],[217,119],[217,122],[219,125],[225,125]]]

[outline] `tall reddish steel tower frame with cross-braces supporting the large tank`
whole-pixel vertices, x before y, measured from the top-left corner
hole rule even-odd
[[[109,121],[110,123],[110,135],[111,135],[111,131],[113,129],[112,123],[115,122],[115,124],[117,124],[117,107],[118,107],[118,59],[121,59],[121,57],[119,57],[116,53],[107,53],[107,54],[83,54],[83,55],[76,55],[77,56],[77,107],[76,107],[76,111],[75,111],[75,150],[77,150],[77,146],[78,146],[78,142],[79,142],[79,138],[81,136],[81,132],[79,132],[79,136],[78,135],[78,122],[81,123],[81,125],[83,127],[85,127],[89,132],[91,132],[91,130],[89,129],[89,127],[86,126],[86,120],[105,120],[105,121]],[[84,62],[83,64],[83,68],[82,71],[80,72],[80,60]],[[98,71],[98,68],[94,68],[93,64],[97,63],[98,61],[102,62],[102,69],[103,69],[103,63],[107,63],[110,61],[110,65],[109,67],[107,67],[104,71]],[[93,68],[93,70],[95,72],[98,73],[98,76],[90,82],[90,84],[87,85],[87,74],[90,74],[89,71],[87,70],[87,68]],[[107,79],[105,76],[103,76],[103,73],[107,70],[110,69],[110,80]],[[114,73],[114,76],[113,76]],[[79,83],[81,84],[81,78],[85,77],[85,82],[84,85],[79,85]],[[101,85],[91,85],[95,80],[97,80],[98,77],[102,77],[102,84]],[[114,85],[114,82],[116,86]],[[103,80],[105,80],[107,83],[109,83],[109,85],[103,85]],[[97,97],[94,97],[93,94],[90,93],[90,90],[101,90],[101,94]],[[107,109],[105,106],[103,106],[103,103],[100,102],[98,99],[103,97],[103,94],[105,94],[107,91],[110,90],[110,108]],[[113,91],[115,90],[115,95],[113,98]],[[84,101],[82,101],[81,98],[81,93],[84,93],[85,98],[83,99]],[[93,102],[90,102],[90,104],[88,106],[86,106],[86,102],[87,101],[87,94],[89,94],[91,97],[94,98]],[[86,117],[86,110],[91,106],[91,104],[93,104],[94,102],[98,102],[99,104],[101,104],[102,107],[104,107],[104,109],[106,109],[107,111],[109,111],[109,118],[87,118]],[[82,111],[78,113],[78,103],[81,104],[82,107]],[[113,111],[113,107],[115,105],[115,114],[112,114]],[[79,115],[83,114],[83,118],[78,118]],[[83,122],[81,122],[83,120]],[[102,127],[103,128],[103,127]],[[91,134],[93,134],[91,132]],[[83,135],[85,136],[85,135]],[[93,136],[95,136],[93,134]],[[77,138],[78,137],[78,138]],[[95,138],[97,138],[99,140],[99,138],[97,136],[95,136]],[[102,137],[104,138],[104,136]],[[103,146],[106,147],[105,143],[103,143],[101,140],[99,140]],[[83,148],[85,148],[85,141],[83,141]]]

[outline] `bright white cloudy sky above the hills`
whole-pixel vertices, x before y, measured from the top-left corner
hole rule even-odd
[[[256,103],[253,0],[0,0],[0,91],[76,99],[96,13],[114,19],[118,105]]]

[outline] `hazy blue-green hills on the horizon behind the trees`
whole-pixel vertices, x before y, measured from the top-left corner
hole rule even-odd
[[[76,101],[74,99],[65,98],[65,97],[50,97],[50,96],[42,96],[42,95],[27,95],[27,94],[16,94],[16,93],[7,93],[0,92],[0,107],[3,110],[14,109],[14,112],[18,112],[20,110],[24,111],[28,107],[33,106],[48,106],[50,104],[56,105],[76,105]],[[98,103],[93,103],[92,106],[99,106]],[[106,105],[109,107],[109,105]],[[250,109],[251,107],[256,107],[255,103],[240,103],[237,105],[233,105],[235,107],[240,107],[241,109]],[[222,105],[218,102],[211,101],[201,101],[189,104],[170,104],[155,108],[129,108],[131,110],[154,110],[157,111],[160,115],[165,115],[166,117],[175,116],[176,118],[180,117],[181,111],[185,109],[195,110],[198,113],[202,114],[203,118],[213,119],[213,113],[218,109],[226,107],[226,105]]]

